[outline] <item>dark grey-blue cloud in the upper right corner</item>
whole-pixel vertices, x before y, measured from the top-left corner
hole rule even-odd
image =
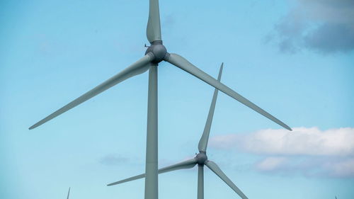
[[[291,0],[295,6],[275,25],[266,41],[282,52],[303,47],[322,53],[354,50],[354,1]]]

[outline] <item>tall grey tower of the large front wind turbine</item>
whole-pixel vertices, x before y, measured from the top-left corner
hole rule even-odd
[[[150,64],[149,91],[147,97],[147,158],[145,165],[145,199],[159,198],[157,176],[157,65]]]

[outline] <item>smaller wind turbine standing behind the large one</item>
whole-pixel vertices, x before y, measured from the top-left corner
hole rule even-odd
[[[220,81],[222,75],[222,68],[224,63],[222,63],[219,76],[217,81]],[[204,165],[206,165],[210,170],[212,170],[219,178],[221,178],[227,185],[232,188],[241,198],[248,199],[242,191],[237,188],[237,186],[222,172],[222,170],[215,164],[214,161],[210,161],[207,159],[207,141],[209,140],[210,127],[212,126],[212,117],[214,115],[215,103],[217,101],[217,89],[214,91],[214,96],[212,96],[212,104],[210,105],[209,114],[207,115],[207,123],[205,123],[204,132],[202,133],[202,137],[200,138],[198,149],[199,154],[197,154],[193,159],[188,159],[186,161],[182,161],[178,164],[173,164],[171,166],[166,166],[162,169],[158,170],[158,174],[162,174],[169,171],[175,171],[178,169],[190,169],[193,168],[196,164],[198,164],[198,199],[204,198]],[[117,185],[120,183],[125,183],[128,181],[134,181],[139,178],[144,178],[145,174],[140,174],[138,176],[133,176],[130,178],[126,178],[122,181],[117,181],[115,183],[110,183],[108,186]]]

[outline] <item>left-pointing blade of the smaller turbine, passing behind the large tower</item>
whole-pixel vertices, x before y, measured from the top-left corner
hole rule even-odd
[[[173,164],[171,166],[166,166],[164,168],[161,168],[161,169],[158,170],[158,173],[159,174],[163,174],[163,173],[166,173],[166,172],[169,172],[169,171],[175,171],[175,170],[178,170],[178,169],[190,169],[193,166],[195,166],[195,164],[197,164],[197,161],[194,158],[193,159],[188,159],[186,161],[181,161],[180,163]],[[134,181],[134,180],[137,180],[139,178],[145,178],[145,174],[140,174],[140,175],[137,175],[137,176],[126,178],[126,179],[124,179],[122,181],[117,181],[115,183],[110,183],[107,186],[113,186],[113,185],[117,185],[117,184],[120,184],[120,183],[125,183],[125,182],[128,182],[128,181]]]

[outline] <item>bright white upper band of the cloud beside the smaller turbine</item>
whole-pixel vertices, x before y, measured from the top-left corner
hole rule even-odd
[[[288,130],[259,130],[249,135],[219,135],[210,145],[217,148],[239,148],[256,154],[282,155],[354,155],[354,128],[321,131],[317,127],[295,127]]]

